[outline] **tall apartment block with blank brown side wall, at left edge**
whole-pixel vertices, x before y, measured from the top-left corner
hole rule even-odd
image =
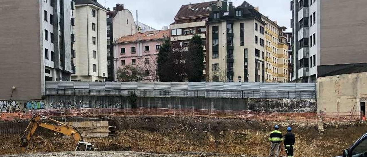
[[[0,99],[41,99],[45,81],[70,81],[73,9],[71,0],[0,1]]]

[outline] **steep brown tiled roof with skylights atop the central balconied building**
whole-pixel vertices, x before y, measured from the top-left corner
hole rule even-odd
[[[192,9],[189,9],[189,4],[182,5],[180,10],[177,12],[175,16],[175,19],[185,18],[185,17],[194,17],[194,16],[200,16],[200,15],[209,15],[210,10],[207,8],[210,7],[210,4],[218,3],[218,1],[219,0],[191,4]]]

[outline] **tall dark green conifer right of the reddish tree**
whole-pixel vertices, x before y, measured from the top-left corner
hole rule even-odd
[[[189,51],[185,53],[185,69],[189,82],[201,81],[204,70],[203,39],[199,34],[192,36]]]

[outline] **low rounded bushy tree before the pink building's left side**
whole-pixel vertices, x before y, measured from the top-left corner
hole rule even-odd
[[[141,67],[125,65],[116,70],[117,80],[121,82],[138,82],[145,77],[145,72]]]

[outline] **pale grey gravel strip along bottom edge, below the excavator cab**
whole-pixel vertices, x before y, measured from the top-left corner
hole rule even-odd
[[[250,156],[226,156],[209,154],[152,154],[135,151],[65,151],[52,153],[32,153],[2,155],[0,157],[250,157]]]

